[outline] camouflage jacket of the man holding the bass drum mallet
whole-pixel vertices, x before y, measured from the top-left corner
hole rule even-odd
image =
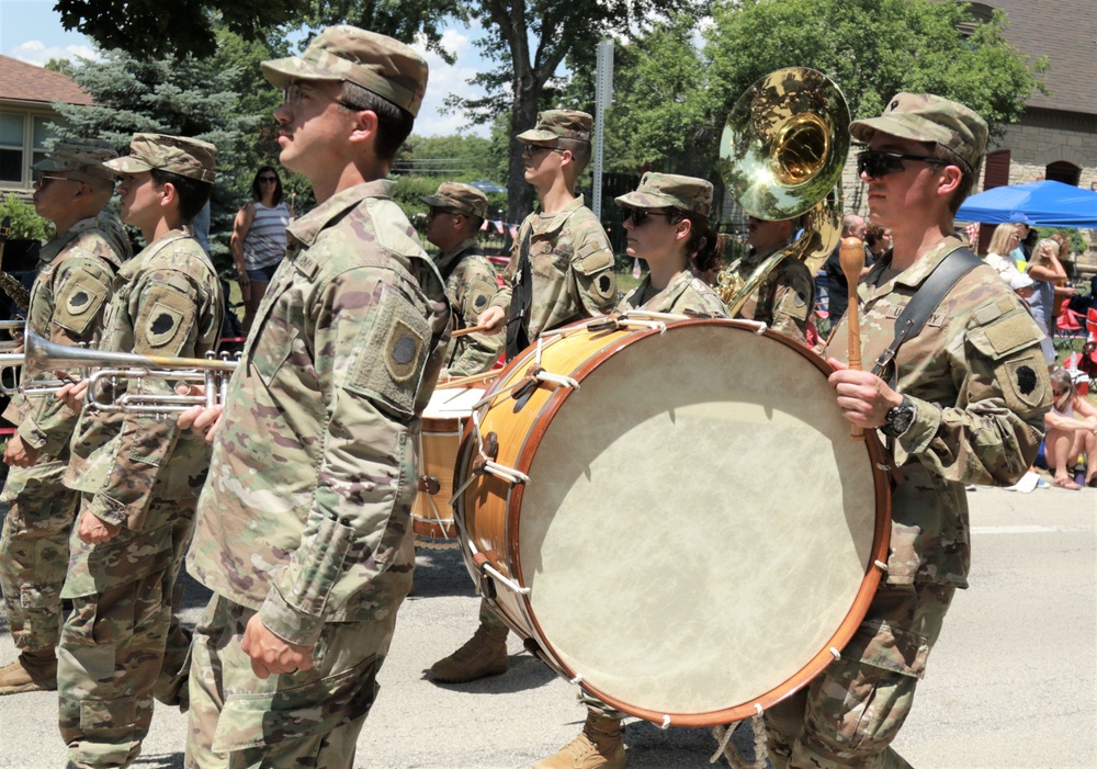
[[[892,276],[887,253],[861,281],[866,369],[891,344],[895,319],[923,281],[961,245],[949,238]],[[848,360],[847,339],[844,319],[826,354]],[[953,286],[884,371],[916,409],[914,422],[891,448],[897,472],[889,583],[968,586],[964,484],[1014,484],[1036,456],[1051,404],[1039,340],[1025,303],[992,268],[980,265]]]

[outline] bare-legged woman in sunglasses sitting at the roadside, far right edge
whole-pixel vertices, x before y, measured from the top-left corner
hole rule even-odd
[[[1086,455],[1086,486],[1097,487],[1097,407],[1078,395],[1074,380],[1063,369],[1051,372],[1051,410],[1044,415],[1044,456],[1060,488],[1082,488],[1071,477],[1071,465]]]

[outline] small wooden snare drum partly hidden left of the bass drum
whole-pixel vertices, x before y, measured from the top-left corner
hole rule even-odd
[[[420,545],[453,546],[453,465],[465,422],[484,397],[482,387],[439,386],[422,412],[419,443],[419,493],[411,508],[411,528]]]

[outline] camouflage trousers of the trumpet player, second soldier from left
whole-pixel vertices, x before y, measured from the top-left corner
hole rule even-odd
[[[148,734],[166,656],[174,665],[186,658],[185,649],[166,655],[166,647],[169,638],[185,643],[172,627],[172,599],[196,505],[155,500],[143,531],[123,528],[98,545],[72,534],[61,591],[72,612],[57,649],[57,689],[61,737],[78,767],[129,766]]]

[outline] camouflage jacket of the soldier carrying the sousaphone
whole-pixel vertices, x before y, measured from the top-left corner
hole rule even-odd
[[[765,253],[751,250],[732,262],[728,269],[745,281],[777,250]],[[807,320],[814,309],[815,281],[802,261],[787,257],[767,275],[736,317],[765,323],[774,331],[806,343]]]

